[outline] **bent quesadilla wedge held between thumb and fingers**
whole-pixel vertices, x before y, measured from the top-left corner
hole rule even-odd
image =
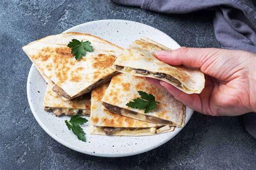
[[[154,56],[158,50],[171,51],[157,42],[142,38],[133,42],[114,62],[116,70],[137,76],[163,80],[187,94],[201,93],[204,74],[199,69],[170,66]]]

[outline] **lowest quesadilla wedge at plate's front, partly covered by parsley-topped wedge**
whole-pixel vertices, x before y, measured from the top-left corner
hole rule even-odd
[[[102,134],[110,136],[147,136],[170,132],[174,130],[170,125],[157,125],[138,121],[122,115],[113,114],[104,109],[100,100],[105,93],[108,84],[92,90],[90,134]]]

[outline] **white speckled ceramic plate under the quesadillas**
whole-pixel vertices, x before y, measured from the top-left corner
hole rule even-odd
[[[83,32],[93,34],[100,38],[109,40],[120,47],[127,47],[132,41],[140,37],[148,37],[172,49],[180,46],[165,33],[154,29],[151,26],[132,22],[129,20],[97,20],[72,27],[65,32]],[[38,73],[36,67],[30,68],[27,93],[31,111],[37,122],[53,139],[71,148],[72,150],[85,154],[100,157],[125,157],[139,154],[156,148],[171,138],[176,136],[182,128],[176,128],[173,132],[144,137],[111,137],[90,135],[88,123],[83,126],[86,132],[86,142],[77,139],[72,131],[68,130],[64,120],[70,119],[68,116],[56,117],[45,112],[43,99],[46,89],[46,82]],[[186,121],[188,122],[193,114],[193,110],[186,108]],[[89,119],[89,117],[87,118]]]

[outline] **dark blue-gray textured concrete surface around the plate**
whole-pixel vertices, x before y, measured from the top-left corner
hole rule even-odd
[[[256,140],[245,131],[241,117],[195,113],[171,141],[126,158],[78,153],[46,134],[26,98],[31,61],[21,47],[99,19],[127,19],[151,25],[181,46],[220,47],[214,37],[212,13],[163,15],[111,1],[1,1],[0,169],[256,168]]]

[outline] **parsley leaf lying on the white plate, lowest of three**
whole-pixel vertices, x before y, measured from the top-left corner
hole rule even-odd
[[[70,121],[65,120],[66,126],[68,126],[69,130],[72,130],[74,134],[76,134],[77,138],[82,141],[86,141],[85,133],[80,125],[88,122],[86,118],[80,117],[79,115],[74,115],[71,117]]]

